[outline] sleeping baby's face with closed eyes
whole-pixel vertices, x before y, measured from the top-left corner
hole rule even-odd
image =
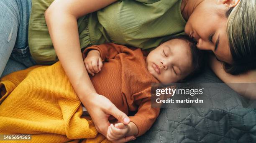
[[[184,39],[164,42],[148,54],[146,65],[148,72],[163,84],[184,79],[193,70],[189,42]]]

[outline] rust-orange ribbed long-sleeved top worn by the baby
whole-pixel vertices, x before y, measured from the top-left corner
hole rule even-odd
[[[157,79],[148,72],[146,57],[139,48],[128,48],[114,43],[88,47],[100,51],[104,61],[101,71],[90,76],[98,94],[104,95],[121,111],[137,111],[130,119],[138,127],[138,136],[145,133],[159,115],[159,108],[151,108],[151,84]]]

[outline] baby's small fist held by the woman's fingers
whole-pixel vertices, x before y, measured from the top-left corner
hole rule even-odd
[[[129,128],[124,123],[116,123],[115,126],[111,123],[108,126],[107,138],[110,141],[116,141],[123,138],[128,133]]]

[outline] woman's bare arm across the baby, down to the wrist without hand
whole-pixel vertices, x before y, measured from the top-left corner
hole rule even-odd
[[[82,59],[77,19],[114,1],[55,0],[45,12],[47,27],[56,54],[82,102],[85,96],[96,94],[96,91]]]

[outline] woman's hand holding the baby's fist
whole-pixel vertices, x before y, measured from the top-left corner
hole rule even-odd
[[[127,125],[130,122],[128,116],[120,111],[109,99],[99,94],[92,94],[90,98],[82,101],[83,105],[89,112],[95,124],[97,131],[107,137],[108,126],[110,123],[108,118],[110,115],[118,119],[119,122]],[[134,136],[120,138],[117,143],[131,141]]]

